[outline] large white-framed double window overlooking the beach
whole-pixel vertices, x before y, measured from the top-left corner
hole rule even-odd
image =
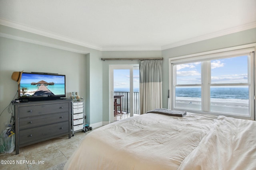
[[[254,119],[254,51],[170,59],[171,109]]]

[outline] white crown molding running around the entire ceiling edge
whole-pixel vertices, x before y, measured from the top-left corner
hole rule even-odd
[[[15,29],[20,29],[22,31],[27,31],[27,32],[35,33],[35,34],[42,35],[42,36],[45,36],[45,37],[50,37],[50,38],[53,38],[53,39],[58,39],[58,40],[65,41],[65,42],[68,42],[68,43],[80,45],[82,47],[88,47],[90,49],[96,49],[96,50],[99,50],[99,51],[162,51],[162,50],[166,50],[166,49],[170,49],[170,48],[174,48],[174,47],[179,47],[179,46],[190,44],[190,43],[195,43],[195,42],[198,42],[198,41],[204,41],[206,39],[212,39],[212,38],[215,38],[215,37],[220,37],[220,36],[223,36],[223,35],[228,35],[228,34],[231,34],[231,33],[236,33],[236,32],[244,31],[244,30],[247,30],[247,29],[256,28],[256,21],[254,21],[254,22],[247,23],[247,24],[244,24],[244,25],[239,25],[237,27],[224,29],[224,30],[221,30],[221,31],[217,31],[217,32],[214,32],[214,33],[209,33],[209,34],[202,35],[202,36],[199,36],[199,37],[194,37],[194,38],[187,39],[187,40],[184,40],[184,41],[179,41],[179,42],[172,43],[172,44],[169,44],[169,45],[163,45],[162,47],[99,47],[97,45],[91,45],[89,43],[78,41],[76,39],[72,39],[72,38],[65,37],[65,36],[62,36],[62,35],[58,35],[58,34],[55,34],[55,33],[51,33],[51,32],[48,32],[48,31],[36,29],[34,27],[29,27],[27,25],[23,25],[21,23],[16,23],[16,22],[13,22],[13,21],[10,21],[10,20],[5,20],[5,19],[2,19],[2,18],[0,18],[0,24],[8,26],[8,27],[15,28]],[[14,37],[14,35],[7,36],[7,35],[0,34],[0,36],[1,35],[4,36],[4,37],[12,38],[12,39],[17,39],[17,40],[20,39],[20,41],[26,41],[26,42],[36,43],[36,44],[40,44],[40,45],[44,44],[48,47],[54,47],[54,48],[58,47],[58,49],[67,49],[67,48],[63,48],[63,47],[61,48],[60,46],[56,46],[56,45],[53,45],[53,44],[50,44],[50,43],[42,43],[42,42],[39,42],[39,41],[34,41],[34,40],[31,40],[31,39],[26,39],[26,38],[22,38],[22,37]],[[72,50],[72,49],[70,49],[70,50]],[[68,51],[70,51],[70,50],[68,50]],[[72,51],[74,51],[74,50],[72,50]],[[83,52],[83,53],[85,53],[85,52]]]

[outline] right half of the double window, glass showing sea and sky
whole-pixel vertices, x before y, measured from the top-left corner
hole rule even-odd
[[[250,55],[211,61],[210,111],[249,116]],[[252,91],[252,93],[250,93]]]

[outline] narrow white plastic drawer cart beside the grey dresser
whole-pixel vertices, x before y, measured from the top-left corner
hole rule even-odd
[[[84,99],[81,101],[72,100],[72,136],[76,131],[87,131],[85,129]]]

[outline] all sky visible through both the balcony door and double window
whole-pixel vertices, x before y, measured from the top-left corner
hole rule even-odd
[[[176,66],[177,84],[201,84],[201,63]],[[130,70],[114,70],[114,88],[129,88]],[[212,83],[248,82],[248,56],[211,61]],[[134,88],[139,88],[139,70],[134,70]]]

